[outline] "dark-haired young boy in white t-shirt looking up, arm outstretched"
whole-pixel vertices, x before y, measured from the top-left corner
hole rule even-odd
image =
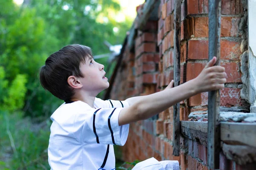
[[[125,101],[96,98],[108,88],[104,65],[91,49],[67,45],[50,55],[40,71],[41,85],[65,102],[52,114],[48,156],[52,170],[114,170],[113,144],[124,145],[129,123],[148,119],[195,94],[224,88],[227,74],[207,63],[201,74],[175,88]],[[131,148],[132,149],[132,148]]]

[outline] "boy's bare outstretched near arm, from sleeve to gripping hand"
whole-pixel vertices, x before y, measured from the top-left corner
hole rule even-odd
[[[143,96],[130,107],[122,109],[118,118],[119,126],[148,119],[196,94],[224,88],[224,83],[227,81],[225,68],[213,66],[215,62],[216,57],[213,57],[195,79],[175,88]]]

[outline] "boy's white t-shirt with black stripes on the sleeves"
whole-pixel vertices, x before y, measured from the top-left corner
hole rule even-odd
[[[51,116],[48,161],[51,170],[114,170],[113,144],[124,145],[129,125],[118,116],[128,102],[96,98],[94,107],[62,104]]]

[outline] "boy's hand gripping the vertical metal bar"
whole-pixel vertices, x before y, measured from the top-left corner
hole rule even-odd
[[[217,58],[213,57],[198,77],[194,79],[198,93],[224,88],[224,83],[227,81],[227,74],[225,73],[224,67],[214,66],[216,60]]]

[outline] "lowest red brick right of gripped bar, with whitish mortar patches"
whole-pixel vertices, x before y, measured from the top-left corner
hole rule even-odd
[[[242,106],[241,89],[239,88],[223,88],[221,89],[221,106],[232,107],[232,106]]]

